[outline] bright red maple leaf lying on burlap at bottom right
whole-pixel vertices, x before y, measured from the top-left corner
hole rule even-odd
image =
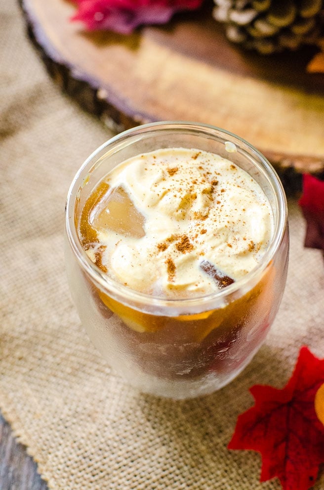
[[[278,477],[284,490],[307,490],[324,462],[324,425],[314,400],[324,383],[324,359],[303,347],[295,370],[282,389],[255,385],[253,407],[239,415],[229,449],[262,455],[260,481]]]

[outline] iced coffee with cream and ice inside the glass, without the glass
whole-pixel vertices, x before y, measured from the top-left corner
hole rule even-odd
[[[109,349],[118,346],[134,379],[142,376],[149,385],[159,378],[165,386],[216,379],[219,388],[241,370],[272,321],[271,262],[253,287],[234,291],[215,310],[164,316],[155,314],[154,298],[205,298],[231,287],[262,260],[273,223],[258,183],[230,160],[204,151],[144,153],[99,182],[80,213],[82,246],[110,278],[152,295],[148,313],[90,287],[96,314],[103,324],[113,321]]]

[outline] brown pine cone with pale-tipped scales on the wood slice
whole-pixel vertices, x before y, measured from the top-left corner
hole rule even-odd
[[[214,18],[230,41],[263,54],[317,44],[324,31],[324,0],[214,0]]]

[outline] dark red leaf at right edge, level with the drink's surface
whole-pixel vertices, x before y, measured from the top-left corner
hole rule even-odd
[[[324,250],[324,181],[304,174],[299,205],[306,220],[305,247]]]

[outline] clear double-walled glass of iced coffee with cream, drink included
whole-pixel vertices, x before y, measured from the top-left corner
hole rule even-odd
[[[210,393],[259,349],[283,294],[286,204],[240,138],[189,123],[117,136],[77,175],[66,227],[81,320],[133,386]]]

